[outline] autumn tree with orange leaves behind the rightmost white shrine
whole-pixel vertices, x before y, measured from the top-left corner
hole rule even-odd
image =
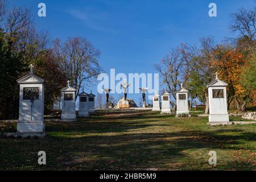
[[[241,84],[241,74],[247,57],[240,49],[231,46],[217,46],[211,55],[212,67],[219,73],[221,80],[228,83],[228,107],[234,101],[240,111],[245,111],[250,93]]]

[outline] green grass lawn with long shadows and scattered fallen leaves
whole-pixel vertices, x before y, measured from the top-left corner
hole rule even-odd
[[[44,139],[0,138],[0,170],[256,170],[256,125],[208,126],[208,117],[152,111],[102,112],[46,122]],[[1,123],[0,132],[16,123]],[[47,165],[39,166],[38,151]],[[210,165],[209,151],[217,152]]]

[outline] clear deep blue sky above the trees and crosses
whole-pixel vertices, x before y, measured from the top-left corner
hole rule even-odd
[[[46,3],[47,16],[39,18],[38,3]],[[210,2],[217,4],[217,17],[208,16]],[[13,0],[10,5],[32,9],[38,28],[51,38],[85,36],[100,49],[100,65],[106,73],[156,73],[169,49],[180,43],[198,43],[212,35],[217,41],[232,36],[229,14],[240,7],[251,9],[255,0],[208,1],[61,1]],[[86,88],[96,92],[96,86]],[[141,94],[132,94],[135,102]]]

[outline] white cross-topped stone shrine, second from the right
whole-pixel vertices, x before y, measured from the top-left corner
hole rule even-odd
[[[176,116],[180,114],[189,114],[188,111],[188,90],[183,88],[183,84],[180,84],[180,89],[176,92]]]

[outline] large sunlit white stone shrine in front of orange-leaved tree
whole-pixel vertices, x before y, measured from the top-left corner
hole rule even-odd
[[[226,100],[226,86],[228,84],[216,78],[207,85],[209,97],[209,125],[225,125],[229,123],[228,106]]]

